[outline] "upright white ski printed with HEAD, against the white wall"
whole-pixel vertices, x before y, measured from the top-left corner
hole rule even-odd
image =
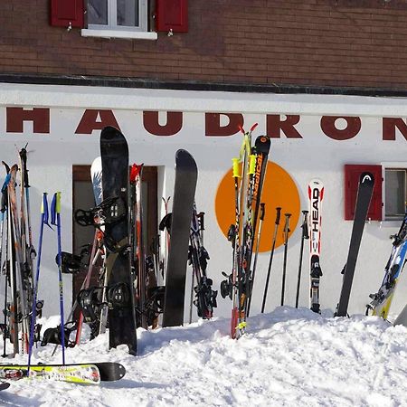
[[[319,279],[322,277],[319,256],[321,252],[321,206],[324,199],[324,185],[314,178],[308,184],[309,199],[309,268],[310,268],[310,308],[319,313]]]

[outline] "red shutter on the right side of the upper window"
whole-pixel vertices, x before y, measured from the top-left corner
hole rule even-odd
[[[156,0],[156,31],[188,31],[188,0]]]

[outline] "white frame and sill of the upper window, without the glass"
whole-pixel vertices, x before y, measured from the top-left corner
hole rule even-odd
[[[108,0],[108,24],[88,24],[88,28],[80,30],[80,34],[84,37],[157,39],[156,33],[147,31],[147,0],[138,0],[137,26],[117,24],[117,5],[117,0]]]

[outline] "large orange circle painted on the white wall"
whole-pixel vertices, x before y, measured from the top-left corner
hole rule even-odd
[[[218,185],[215,198],[216,220],[225,237],[228,235],[231,224],[235,222],[234,197],[234,178],[231,168],[223,176],[221,183]],[[289,236],[295,231],[300,215],[300,200],[297,185],[295,185],[287,171],[271,161],[267,163],[260,202],[265,204],[265,216],[261,226],[259,251],[270,251],[276,226],[276,208],[281,208],[276,248],[284,243],[285,213],[291,213],[289,218]],[[256,237],[259,223],[260,220],[257,222]],[[256,242],[254,242],[253,247],[256,247]]]

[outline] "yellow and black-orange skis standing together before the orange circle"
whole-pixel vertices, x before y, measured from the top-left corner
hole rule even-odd
[[[232,299],[231,337],[238,339],[243,335],[246,318],[251,307],[251,292],[255,276],[254,262],[251,265],[254,236],[258,218],[262,222],[264,206],[261,206],[261,192],[265,179],[267,161],[270,151],[270,137],[256,138],[251,146],[251,134],[257,127],[254,124],[249,131],[241,129],[243,141],[240,156],[232,159],[232,176],[234,179],[235,222],[229,230],[232,242],[232,274],[221,284],[223,298]],[[259,216],[262,208],[262,214]],[[258,238],[259,239],[259,238]],[[259,249],[257,244],[256,253]],[[257,260],[257,256],[254,257]]]

